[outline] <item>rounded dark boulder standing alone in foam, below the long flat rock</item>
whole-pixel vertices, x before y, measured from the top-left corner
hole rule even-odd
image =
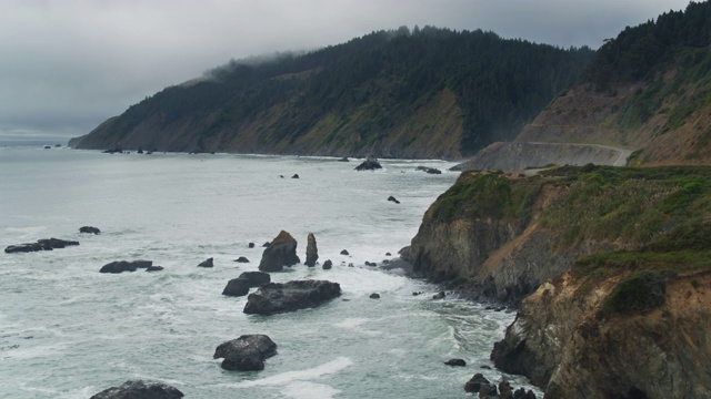
[[[254,371],[264,369],[264,360],[277,355],[277,344],[263,334],[243,335],[220,344],[213,359],[222,360],[226,370]]]

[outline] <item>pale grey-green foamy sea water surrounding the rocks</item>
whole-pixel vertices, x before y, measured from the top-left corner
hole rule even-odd
[[[162,381],[187,398],[460,398],[475,372],[531,388],[481,368],[492,366],[513,314],[433,300],[435,286],[364,265],[395,258],[457,178],[442,161],[381,163],[356,172],[357,160],[328,157],[0,147],[0,246],[80,242],[0,253],[0,398],[89,398],[129,379]],[[78,233],[84,225],[101,234]],[[222,289],[257,270],[262,244],[282,229],[302,260],[313,233],[319,263],[334,266],[296,265],[272,280],[328,279],[343,294],[313,309],[246,315],[247,298]],[[234,263],[240,256],[250,263]],[[213,268],[197,267],[209,257]],[[99,273],[122,259],[164,269]],[[263,371],[226,371],[212,359],[243,334],[277,342]],[[468,366],[444,366],[449,358]]]

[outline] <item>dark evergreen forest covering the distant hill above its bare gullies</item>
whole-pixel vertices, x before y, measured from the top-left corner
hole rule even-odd
[[[132,105],[114,129],[128,132],[154,115],[164,126],[202,117],[212,121],[198,132],[208,137],[288,104],[289,112],[276,122],[282,139],[293,142],[322,116],[346,120],[357,110],[367,110],[360,117],[370,121],[358,133],[368,137],[450,90],[463,111],[461,151],[467,154],[512,139],[593,55],[589,48],[560,49],[481,30],[401,27],[304,54],[231,61],[197,84],[171,86]]]

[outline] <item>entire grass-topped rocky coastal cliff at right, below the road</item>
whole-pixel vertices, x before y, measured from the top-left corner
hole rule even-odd
[[[711,392],[711,167],[464,172],[412,239],[415,273],[518,305],[494,364],[545,398]]]

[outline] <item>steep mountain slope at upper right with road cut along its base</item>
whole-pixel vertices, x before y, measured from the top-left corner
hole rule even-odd
[[[711,162],[711,3],[627,28],[515,142],[603,144],[631,164]],[[505,146],[499,146],[501,156]],[[499,155],[494,155],[499,156]],[[571,163],[561,156],[554,163]],[[605,164],[605,158],[595,160]],[[474,160],[469,168],[483,168]],[[523,166],[538,166],[525,164]]]

